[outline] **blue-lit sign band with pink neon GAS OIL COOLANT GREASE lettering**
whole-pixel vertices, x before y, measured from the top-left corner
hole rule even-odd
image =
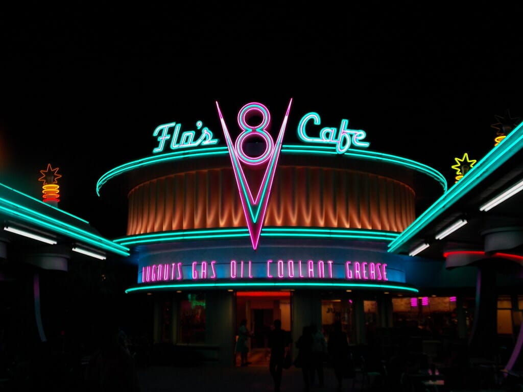
[[[334,279],[337,267],[333,260],[292,259],[268,259],[264,263],[235,259],[229,263],[217,263],[215,260],[186,264],[157,263],[143,266],[138,281],[150,283],[216,279]],[[345,280],[389,280],[386,263],[346,261],[339,264],[339,267],[343,268]]]

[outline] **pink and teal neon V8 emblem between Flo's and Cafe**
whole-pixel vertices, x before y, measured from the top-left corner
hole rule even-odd
[[[238,111],[238,126],[240,126],[240,129],[243,129],[243,132],[238,135],[236,142],[233,143],[227,125],[225,124],[225,120],[223,119],[218,101],[216,102],[218,116],[220,117],[220,122],[222,124],[225,142],[229,149],[229,155],[231,156],[234,176],[236,177],[238,192],[240,192],[243,212],[245,214],[245,220],[247,221],[247,227],[249,229],[249,235],[251,236],[251,243],[253,244],[254,250],[258,247],[261,227],[263,227],[265,220],[270,190],[272,188],[272,180],[274,180],[274,173],[276,171],[276,166],[278,165],[281,143],[287,126],[291,103],[292,98],[289,101],[285,117],[283,117],[276,143],[272,140],[272,136],[267,132],[270,125],[270,112],[267,107],[258,102],[247,103],[247,105]],[[255,125],[249,124],[248,120],[255,116],[261,117],[260,123]],[[259,156],[249,156],[246,154],[244,151],[244,144],[249,139],[263,140],[265,143],[265,151]],[[253,197],[253,190],[251,189],[253,183],[252,181],[251,184],[247,182],[244,170],[249,169],[249,167],[252,168],[251,170],[259,170],[260,168],[263,169],[264,165],[265,174],[263,179],[259,182],[256,197]]]

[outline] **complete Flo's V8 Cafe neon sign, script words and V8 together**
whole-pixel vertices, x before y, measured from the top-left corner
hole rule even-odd
[[[235,141],[233,141],[229,132],[229,127],[218,101],[215,103],[231,158],[240,200],[242,201],[249,236],[253,249],[256,250],[267,212],[272,182],[278,166],[283,136],[287,129],[292,98],[289,100],[285,116],[283,116],[279,125],[276,141],[269,133],[271,114],[263,103],[247,103],[238,111],[237,125],[240,134],[236,136]],[[253,123],[253,119],[258,119],[258,122]],[[367,136],[365,131],[349,129],[348,123],[348,120],[342,119],[339,128],[327,126],[314,130],[315,127],[321,125],[321,118],[318,113],[310,112],[299,121],[297,133],[299,139],[304,143],[335,145],[338,154],[344,154],[351,146],[367,148],[370,143],[364,141]],[[166,145],[169,145],[171,151],[176,151],[183,148],[213,146],[219,142],[218,139],[214,139],[213,132],[207,126],[203,126],[202,121],[196,122],[196,128],[197,130],[182,132],[181,124],[176,122],[157,126],[153,136],[157,138],[158,146],[153,149],[153,153],[163,153]],[[245,152],[245,143],[252,139],[258,142],[261,140],[265,144],[264,151],[258,156],[252,156]],[[263,179],[254,185],[248,181],[248,173],[250,170],[260,169],[264,170]]]

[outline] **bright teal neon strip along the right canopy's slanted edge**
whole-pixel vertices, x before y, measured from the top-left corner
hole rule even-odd
[[[425,226],[433,222],[451,205],[460,200],[464,195],[490,176],[497,168],[501,167],[509,158],[523,148],[523,123],[519,124],[505,139],[476,163],[461,180],[444,193],[433,205],[408,226],[399,237],[389,244],[388,252],[397,251],[402,245],[412,239]]]

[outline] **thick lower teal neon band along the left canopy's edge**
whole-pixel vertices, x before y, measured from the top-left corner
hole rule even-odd
[[[97,248],[117,253],[118,255],[129,256],[130,254],[129,248],[126,248],[117,243],[113,243],[112,241],[109,241],[106,238],[99,237],[89,232],[86,232],[85,230],[72,226],[68,223],[55,220],[46,215],[40,214],[34,210],[29,209],[24,205],[16,204],[3,198],[0,198],[0,203],[9,204],[13,207],[6,207],[0,204],[0,211],[8,215],[17,216],[18,218],[26,222],[35,224],[37,226],[45,227],[47,229],[53,230],[54,232],[70,236],[90,245],[94,245]]]

